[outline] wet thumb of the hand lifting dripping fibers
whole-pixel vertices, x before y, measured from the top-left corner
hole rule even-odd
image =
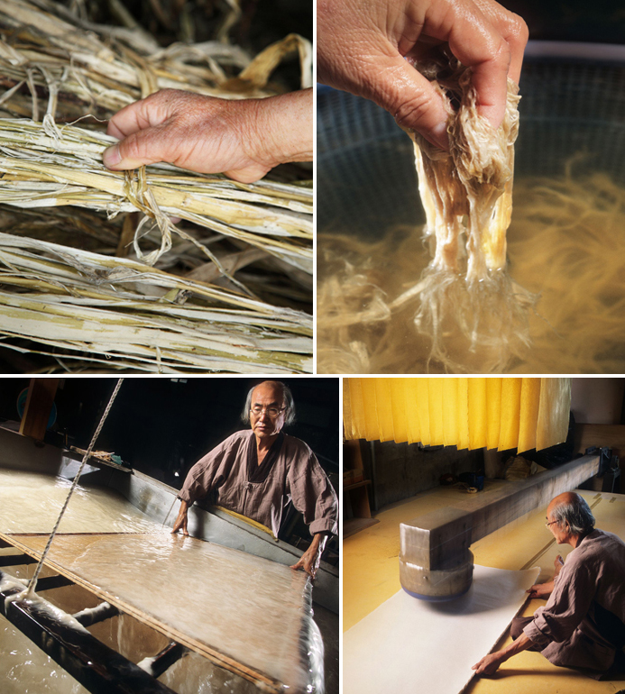
[[[398,53],[376,60],[365,73],[363,81],[371,85],[371,93],[363,96],[389,111],[402,128],[412,128],[437,147],[449,149],[443,98],[408,60]]]

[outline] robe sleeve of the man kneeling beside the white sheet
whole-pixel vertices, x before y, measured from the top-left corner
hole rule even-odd
[[[596,573],[588,562],[570,562],[560,571],[547,605],[538,607],[534,620],[523,631],[534,644],[544,649],[556,641],[562,643],[573,635],[593,602]]]

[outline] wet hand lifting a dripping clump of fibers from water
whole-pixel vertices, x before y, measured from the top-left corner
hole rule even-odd
[[[528,28],[494,0],[317,1],[317,77],[372,99],[405,128],[448,148],[440,95],[411,63],[441,43],[473,68],[478,113],[503,120],[507,78],[519,82]]]

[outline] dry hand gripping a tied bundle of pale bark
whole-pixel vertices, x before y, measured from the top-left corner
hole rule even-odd
[[[166,161],[242,183],[287,161],[312,160],[312,90],[266,99],[228,100],[163,89],[125,106],[107,131],[108,169]]]

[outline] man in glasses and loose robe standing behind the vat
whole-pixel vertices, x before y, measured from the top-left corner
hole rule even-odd
[[[229,436],[188,471],[172,533],[182,528],[188,534],[188,507],[213,492],[216,504],[270,527],[277,536],[282,509],[292,498],[313,540],[291,568],[314,577],[326,536],[336,533],[338,502],[308,445],[282,433],[295,419],[290,389],[273,380],[252,388],[242,418],[251,429]]]

